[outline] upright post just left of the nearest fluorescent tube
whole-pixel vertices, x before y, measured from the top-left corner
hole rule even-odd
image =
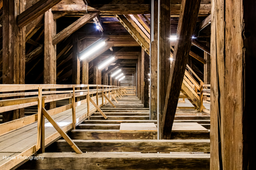
[[[80,85],[80,61],[78,59],[78,37],[77,33],[73,33],[73,47],[72,47],[72,84]],[[76,88],[79,90],[79,87]],[[76,97],[76,101],[79,101],[80,97]]]

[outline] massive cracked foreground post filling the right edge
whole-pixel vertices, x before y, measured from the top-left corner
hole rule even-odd
[[[256,1],[211,2],[210,169],[256,169]]]

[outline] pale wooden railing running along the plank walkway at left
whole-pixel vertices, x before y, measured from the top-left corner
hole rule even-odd
[[[75,90],[75,88],[84,88],[84,87],[87,89]],[[89,89],[90,87],[95,89]],[[44,89],[61,89],[61,88],[65,88],[65,89],[72,88],[73,90],[43,91]],[[88,89],[89,89],[89,93],[88,93]],[[87,106],[88,106],[87,110],[90,110],[89,101],[91,101],[91,103],[97,108],[97,110],[101,111],[98,104],[98,98],[102,97],[102,94],[103,94],[103,96],[105,97],[105,100],[110,101],[109,100],[110,95],[112,96],[112,99],[115,100],[115,97],[117,96],[116,94],[121,93],[120,89],[121,88],[118,86],[108,86],[108,85],[0,85],[0,92],[10,92],[10,93],[0,94],[1,98],[26,96],[24,98],[0,100],[0,113],[10,111],[10,110],[20,109],[24,107],[34,106],[34,105],[37,105],[38,107],[38,114],[30,115],[30,116],[23,117],[11,122],[0,124],[0,136],[6,133],[9,133],[13,130],[20,129],[38,120],[41,121],[41,115],[42,115],[41,110],[44,104],[52,101],[63,100],[63,99],[72,99],[72,103],[62,107],[54,108],[52,110],[48,110],[47,113],[49,114],[49,116],[52,116],[72,108],[72,112],[74,113],[72,126],[73,128],[75,128],[74,125],[76,124],[75,122],[76,106],[87,103]],[[17,91],[34,91],[34,92],[17,92]],[[104,92],[106,94],[104,94]],[[108,92],[108,97],[107,97],[107,92]],[[99,95],[99,93],[101,93],[101,95]],[[90,97],[90,95],[93,96],[93,94],[95,94],[96,96]],[[33,97],[27,97],[27,96],[33,96]],[[74,98],[80,97],[80,96],[87,96],[87,98],[85,100],[75,102]],[[95,104],[93,101],[95,99],[97,101],[96,102],[97,104]],[[102,97],[102,103],[103,103],[103,97]],[[111,101],[110,103],[113,105],[113,107],[115,107],[115,105]],[[100,112],[100,113],[103,115],[103,112]],[[87,115],[87,116],[88,118],[90,117],[90,115]],[[105,115],[103,116],[106,118]],[[40,123],[40,121],[38,121],[38,127],[42,124]]]

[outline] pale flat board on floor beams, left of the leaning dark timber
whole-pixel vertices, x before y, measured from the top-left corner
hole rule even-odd
[[[120,131],[157,131],[155,123],[121,123]]]

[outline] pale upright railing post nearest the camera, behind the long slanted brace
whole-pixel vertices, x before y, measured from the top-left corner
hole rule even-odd
[[[42,133],[42,87],[38,88],[38,104],[37,104],[37,150],[41,148]]]

